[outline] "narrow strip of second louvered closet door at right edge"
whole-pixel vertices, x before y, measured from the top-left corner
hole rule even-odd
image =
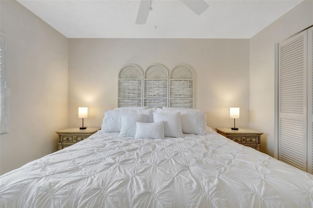
[[[308,29],[308,172],[313,174],[313,27]]]

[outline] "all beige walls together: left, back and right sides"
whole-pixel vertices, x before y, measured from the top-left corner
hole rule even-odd
[[[313,24],[313,1],[304,1],[250,40],[67,39],[16,1],[1,0],[0,9],[11,90],[0,174],[55,151],[54,132],[81,125],[79,106],[89,107],[86,125],[100,126],[102,111],[116,107],[118,72],[128,63],[190,65],[207,124],[232,126],[229,107],[239,106],[236,124],[263,131],[262,151],[273,156],[274,44]]]

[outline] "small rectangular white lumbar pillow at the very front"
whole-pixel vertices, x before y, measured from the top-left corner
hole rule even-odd
[[[136,122],[135,139],[164,139],[164,122],[140,123]]]

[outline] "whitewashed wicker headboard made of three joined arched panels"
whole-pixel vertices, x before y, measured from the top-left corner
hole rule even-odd
[[[124,66],[118,74],[118,107],[194,108],[194,74],[187,65],[179,65],[170,74],[161,64],[142,72],[135,64]]]

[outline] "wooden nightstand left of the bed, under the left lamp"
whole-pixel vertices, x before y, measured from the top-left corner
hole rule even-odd
[[[88,127],[87,129],[76,128],[66,128],[55,133],[59,134],[59,147],[58,149],[63,149],[67,146],[74,145],[87,137],[91,136],[101,128]]]

